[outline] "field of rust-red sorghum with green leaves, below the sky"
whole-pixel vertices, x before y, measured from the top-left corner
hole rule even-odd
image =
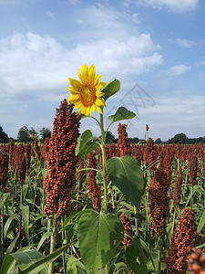
[[[64,100],[43,145],[0,146],[1,273],[205,273],[203,144],[130,144],[119,123],[106,160],[138,161],[133,205],[130,174],[105,193],[101,149],[76,155],[80,119]]]

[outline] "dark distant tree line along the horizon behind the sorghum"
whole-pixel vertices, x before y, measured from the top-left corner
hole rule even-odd
[[[33,142],[35,139],[39,140],[40,142],[44,142],[46,138],[51,136],[51,131],[48,128],[43,127],[39,132],[33,127],[28,129],[26,126],[20,128],[17,134],[17,139],[15,142]],[[0,142],[6,143],[10,142],[13,138],[9,138],[8,135],[3,131],[2,126],[0,125]],[[145,139],[138,139],[138,137],[128,138],[129,142],[131,143],[146,143]],[[113,142],[118,143],[118,138],[115,138],[115,135],[112,132],[108,132],[106,142]],[[194,144],[196,142],[205,143],[205,136],[199,138],[188,138],[184,133],[177,133],[174,137],[170,138],[168,141],[162,142],[160,138],[155,140],[156,144],[160,143],[189,143]]]

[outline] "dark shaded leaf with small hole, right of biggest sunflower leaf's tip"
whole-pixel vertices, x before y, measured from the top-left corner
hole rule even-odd
[[[139,258],[140,263],[137,259]],[[148,273],[146,267],[145,255],[141,248],[138,237],[135,237],[133,243],[126,249],[126,260],[130,269],[135,273]]]

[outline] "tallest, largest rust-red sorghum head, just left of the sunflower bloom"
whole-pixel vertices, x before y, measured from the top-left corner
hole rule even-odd
[[[61,102],[49,139],[49,152],[46,154],[48,173],[44,180],[45,213],[49,217],[67,216],[73,209],[71,193],[76,184],[78,157],[75,150],[81,118],[73,112],[73,106],[66,99]]]

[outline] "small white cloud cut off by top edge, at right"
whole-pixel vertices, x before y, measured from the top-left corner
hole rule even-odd
[[[154,8],[165,7],[173,12],[186,12],[194,10],[199,0],[146,0],[145,2],[146,5]]]

